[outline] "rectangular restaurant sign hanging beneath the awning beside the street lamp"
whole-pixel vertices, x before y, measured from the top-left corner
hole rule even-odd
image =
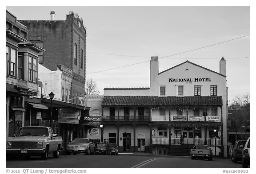
[[[59,109],[58,123],[79,124],[80,110]]]

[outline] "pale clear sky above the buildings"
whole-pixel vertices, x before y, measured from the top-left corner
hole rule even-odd
[[[18,20],[50,20],[51,11],[56,20],[65,20],[70,11],[78,13],[87,28],[86,77],[96,82],[100,94],[109,87],[149,87],[151,56],[159,57],[160,72],[187,60],[219,72],[224,57],[229,102],[250,94],[250,6],[6,9]]]

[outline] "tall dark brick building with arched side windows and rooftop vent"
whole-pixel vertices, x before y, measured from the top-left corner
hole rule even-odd
[[[85,91],[86,28],[83,19],[73,12],[66,15],[66,20],[55,20],[55,12],[50,16],[51,20],[20,20],[20,23],[29,31],[28,40],[47,50],[39,55],[41,65],[55,71],[61,64],[71,70],[72,79],[69,85],[62,84],[61,95],[64,99],[77,98]]]

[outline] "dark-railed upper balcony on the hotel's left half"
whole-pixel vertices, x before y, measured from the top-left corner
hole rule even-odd
[[[104,121],[150,121],[150,116],[106,116]]]

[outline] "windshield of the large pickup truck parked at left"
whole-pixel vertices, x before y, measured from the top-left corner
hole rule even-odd
[[[20,128],[17,136],[48,136],[48,128]]]

